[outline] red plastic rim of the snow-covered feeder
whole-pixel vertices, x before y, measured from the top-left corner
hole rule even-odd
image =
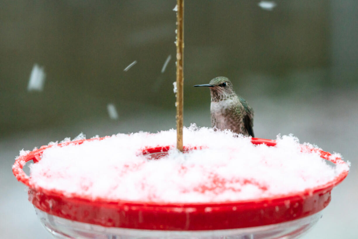
[[[58,144],[82,144],[85,141],[103,138],[84,139]],[[275,140],[252,138],[253,144],[275,146]],[[148,230],[218,230],[247,228],[303,218],[324,209],[330,202],[331,190],[348,175],[343,171],[334,180],[299,193],[291,193],[257,200],[224,203],[153,203],[106,199],[91,200],[86,197],[65,197],[62,192],[46,190],[29,184],[29,176],[23,171],[26,162],[40,161],[42,146],[16,159],[13,166],[15,177],[29,187],[29,201],[48,214],[83,223],[107,227],[120,227]],[[160,153],[171,146],[146,148],[144,154]],[[200,148],[200,147],[199,147]],[[335,164],[345,164],[340,158],[319,149],[321,157]]]

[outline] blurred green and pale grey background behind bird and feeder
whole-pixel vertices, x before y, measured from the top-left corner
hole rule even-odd
[[[12,175],[19,150],[175,128],[175,4],[0,2],[1,238],[51,238]],[[195,0],[184,13],[184,124],[210,126],[209,90],[192,86],[229,77],[256,137],[292,133],[352,162],[303,238],[358,238],[358,1]]]

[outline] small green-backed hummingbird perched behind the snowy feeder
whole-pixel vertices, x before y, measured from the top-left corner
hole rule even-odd
[[[207,86],[211,94],[211,126],[220,130],[229,129],[234,133],[254,137],[253,109],[246,100],[238,96],[231,81],[227,77],[218,76]]]

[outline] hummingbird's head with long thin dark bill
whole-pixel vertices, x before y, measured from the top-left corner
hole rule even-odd
[[[197,86],[207,86],[210,88],[211,101],[221,101],[236,96],[231,81],[224,76],[215,77],[209,84],[195,85],[194,87]]]

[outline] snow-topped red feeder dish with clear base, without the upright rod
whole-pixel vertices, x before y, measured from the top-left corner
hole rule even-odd
[[[349,170],[338,154],[292,136],[192,125],[181,153],[175,134],[49,144],[22,152],[13,172],[45,228],[64,238],[295,238],[318,221]],[[29,177],[22,168],[30,160]]]

